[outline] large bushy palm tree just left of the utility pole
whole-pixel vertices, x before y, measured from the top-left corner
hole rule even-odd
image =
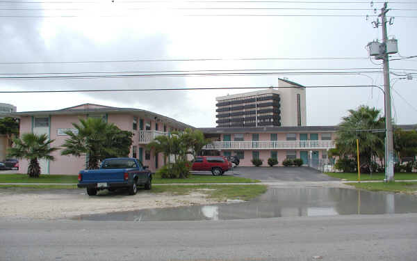
[[[384,135],[380,131],[384,129],[385,118],[379,116],[378,109],[363,105],[349,113],[338,125],[336,148],[340,157],[356,159],[358,139],[359,161],[368,168],[371,161],[375,161],[373,157],[384,158]]]

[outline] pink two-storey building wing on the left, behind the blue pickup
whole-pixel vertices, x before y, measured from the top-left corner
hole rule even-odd
[[[99,117],[114,123],[120,129],[133,132],[133,145],[129,157],[136,157],[152,171],[163,166],[163,156],[147,151],[145,146],[159,135],[168,135],[174,130],[191,127],[166,116],[141,109],[116,108],[97,104],[81,104],[56,111],[28,111],[10,113],[20,118],[20,133],[33,132],[47,134],[54,139],[53,146],[60,147],[68,136],[65,132],[74,131],[73,122],[79,118]],[[193,127],[191,127],[193,128]],[[62,156],[60,151],[54,152],[55,161],[41,160],[43,174],[77,174],[85,168],[86,157]],[[21,160],[19,172],[26,173],[28,161]]]

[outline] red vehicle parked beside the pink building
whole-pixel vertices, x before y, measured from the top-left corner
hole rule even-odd
[[[211,171],[215,176],[223,175],[230,168],[231,162],[222,156],[197,156],[191,167],[193,171]]]

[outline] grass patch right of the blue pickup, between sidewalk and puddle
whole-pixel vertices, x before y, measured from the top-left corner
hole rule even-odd
[[[184,185],[184,186],[152,186],[152,193],[172,193],[186,195],[193,191],[204,193],[215,200],[240,199],[251,200],[265,193],[265,185]]]

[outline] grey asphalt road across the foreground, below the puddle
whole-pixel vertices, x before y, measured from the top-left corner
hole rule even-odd
[[[416,260],[417,214],[1,221],[0,260]]]

